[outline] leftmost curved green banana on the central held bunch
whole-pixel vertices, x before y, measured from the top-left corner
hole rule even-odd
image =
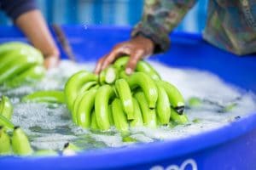
[[[67,109],[72,111],[73,102],[77,98],[80,89],[86,82],[97,81],[97,76],[88,71],[79,71],[67,80],[65,85],[64,93],[67,101]]]

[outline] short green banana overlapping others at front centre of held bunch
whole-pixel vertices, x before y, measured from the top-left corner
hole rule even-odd
[[[115,89],[121,99],[123,110],[125,111],[128,120],[134,119],[134,109],[131,97],[131,89],[125,79],[120,78],[115,82]]]

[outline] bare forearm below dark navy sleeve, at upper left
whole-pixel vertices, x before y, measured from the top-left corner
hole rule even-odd
[[[38,9],[20,14],[15,20],[15,24],[20,27],[26,37],[38,48],[44,56],[59,56],[59,50],[50,35],[44,17]]]

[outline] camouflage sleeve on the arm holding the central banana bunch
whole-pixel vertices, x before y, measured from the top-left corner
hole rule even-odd
[[[195,3],[196,0],[144,0],[143,18],[131,37],[148,37],[154,42],[154,53],[166,51],[170,46],[168,34]]]

